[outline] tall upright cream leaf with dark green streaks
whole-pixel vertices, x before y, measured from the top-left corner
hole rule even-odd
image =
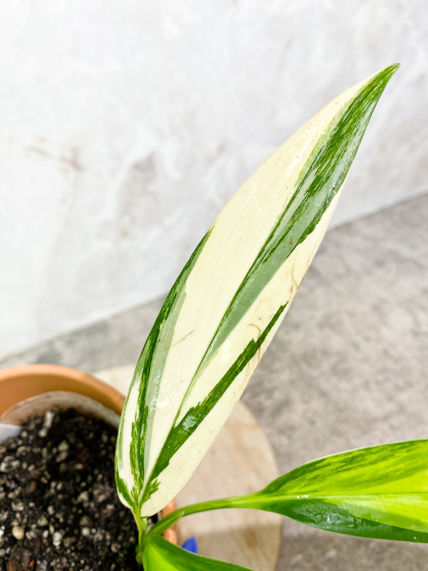
[[[120,420],[116,482],[136,518],[188,481],[247,386],[325,234],[397,65],[338,96],[236,192],[148,336]]]

